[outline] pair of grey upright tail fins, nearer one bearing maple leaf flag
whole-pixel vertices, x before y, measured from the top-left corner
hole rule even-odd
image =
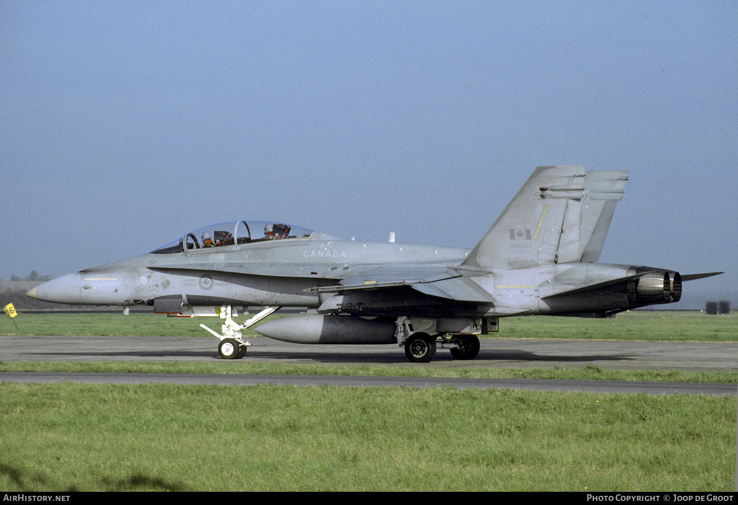
[[[463,265],[523,268],[599,260],[627,175],[538,167]]]

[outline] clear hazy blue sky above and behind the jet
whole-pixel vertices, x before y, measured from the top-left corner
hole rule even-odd
[[[1,1],[0,27],[2,279],[246,218],[471,248],[576,164],[630,170],[601,262],[738,285],[734,1]]]

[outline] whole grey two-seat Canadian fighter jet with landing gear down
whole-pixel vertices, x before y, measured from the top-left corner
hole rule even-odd
[[[303,315],[256,331],[300,344],[399,344],[410,361],[437,347],[468,360],[508,316],[604,317],[677,302],[680,276],[599,260],[628,173],[538,167],[473,249],[342,240],[275,221],[220,223],[148,254],[53,279],[28,293],[64,304],[147,304],[172,316],[219,316],[224,359],[241,330],[281,307]],[[266,307],[238,324],[238,307]]]

